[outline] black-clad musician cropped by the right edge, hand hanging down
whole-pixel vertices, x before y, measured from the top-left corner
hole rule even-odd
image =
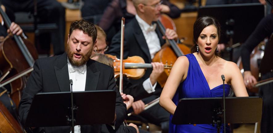
[[[258,44],[263,41],[264,38],[269,38],[269,42],[265,46],[265,51],[263,59],[261,60],[259,66],[259,72],[261,73],[261,79],[269,79],[273,77],[273,43],[272,43],[272,33],[273,33],[273,14],[269,14],[264,17],[253,31],[253,33],[248,37],[246,42],[241,46],[241,57],[244,67],[244,83],[247,88],[252,89],[257,83],[255,77],[251,74],[250,70],[250,54],[252,50],[258,46]],[[261,132],[269,133],[273,132],[273,93],[272,93],[273,83],[268,83],[260,86],[259,96],[263,98],[263,111],[261,120]]]

